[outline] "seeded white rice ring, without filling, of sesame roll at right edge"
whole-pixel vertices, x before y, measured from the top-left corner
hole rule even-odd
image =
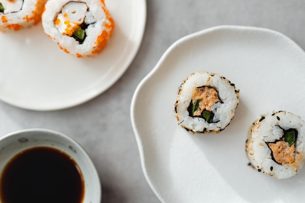
[[[272,158],[267,143],[280,140],[284,130],[298,131],[295,142],[295,161],[279,164]],[[251,126],[246,142],[247,156],[250,164],[258,171],[274,178],[285,179],[296,175],[304,165],[305,126],[304,121],[297,115],[279,111],[272,115],[264,115]]]

